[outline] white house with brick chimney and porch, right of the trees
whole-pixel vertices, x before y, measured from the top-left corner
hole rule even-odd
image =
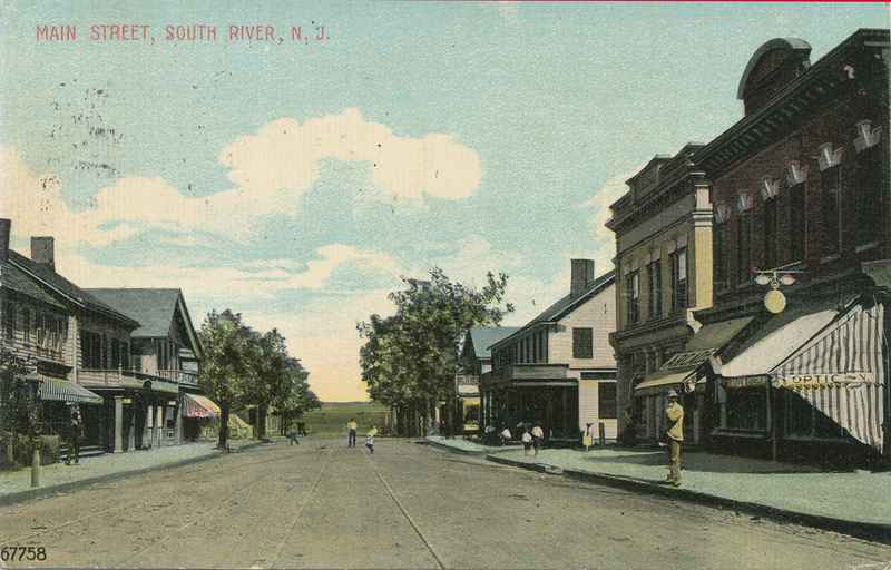
[[[483,425],[517,432],[538,424],[554,442],[578,442],[587,423],[616,438],[615,272],[572,259],[570,293],[491,347],[480,377]],[[513,433],[519,438],[520,433]]]

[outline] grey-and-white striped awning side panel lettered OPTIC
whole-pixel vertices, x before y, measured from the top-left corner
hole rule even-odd
[[[854,305],[771,371],[859,441],[882,450],[884,309]]]

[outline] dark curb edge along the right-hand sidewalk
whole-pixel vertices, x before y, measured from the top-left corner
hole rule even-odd
[[[855,522],[833,517],[823,517],[820,514],[809,514],[796,511],[789,511],[779,509],[776,507],[768,507],[766,504],[752,503],[747,501],[737,501],[735,499],[725,499],[723,497],[715,497],[712,494],[703,493],[701,491],[693,491],[684,488],[669,488],[662,485],[657,482],[634,479],[623,475],[608,475],[604,473],[591,473],[588,471],[578,471],[574,469],[560,469],[554,465],[544,463],[527,463],[525,461],[517,461],[507,458],[499,458],[497,455],[487,455],[487,460],[502,465],[511,465],[538,473],[549,473],[555,475],[562,475],[569,479],[598,483],[607,487],[624,489],[626,491],[634,491],[638,493],[646,493],[667,499],[676,499],[706,507],[716,507],[727,510],[734,510],[770,519],[776,522],[797,524],[801,527],[811,527],[820,530],[838,532],[871,542],[880,542],[882,544],[891,544],[891,524],[881,524],[872,522]]]

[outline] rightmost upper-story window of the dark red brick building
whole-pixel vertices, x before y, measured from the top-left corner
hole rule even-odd
[[[887,207],[882,204],[882,129],[871,129],[870,121],[858,124],[859,137],[854,140],[856,149],[856,186],[854,200],[856,208],[856,246],[868,247],[878,243],[882,235],[882,212]],[[885,228],[887,230],[887,228]]]

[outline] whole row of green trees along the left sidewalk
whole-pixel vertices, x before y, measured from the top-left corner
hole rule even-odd
[[[254,436],[266,439],[266,414],[272,411],[284,423],[321,407],[310,390],[309,373],[297,358],[288,356],[285,338],[273,328],[254,331],[241,313],[226,309],[207,315],[199,333],[205,360],[198,383],[219,406],[219,443],[226,448],[229,415],[254,406]]]

